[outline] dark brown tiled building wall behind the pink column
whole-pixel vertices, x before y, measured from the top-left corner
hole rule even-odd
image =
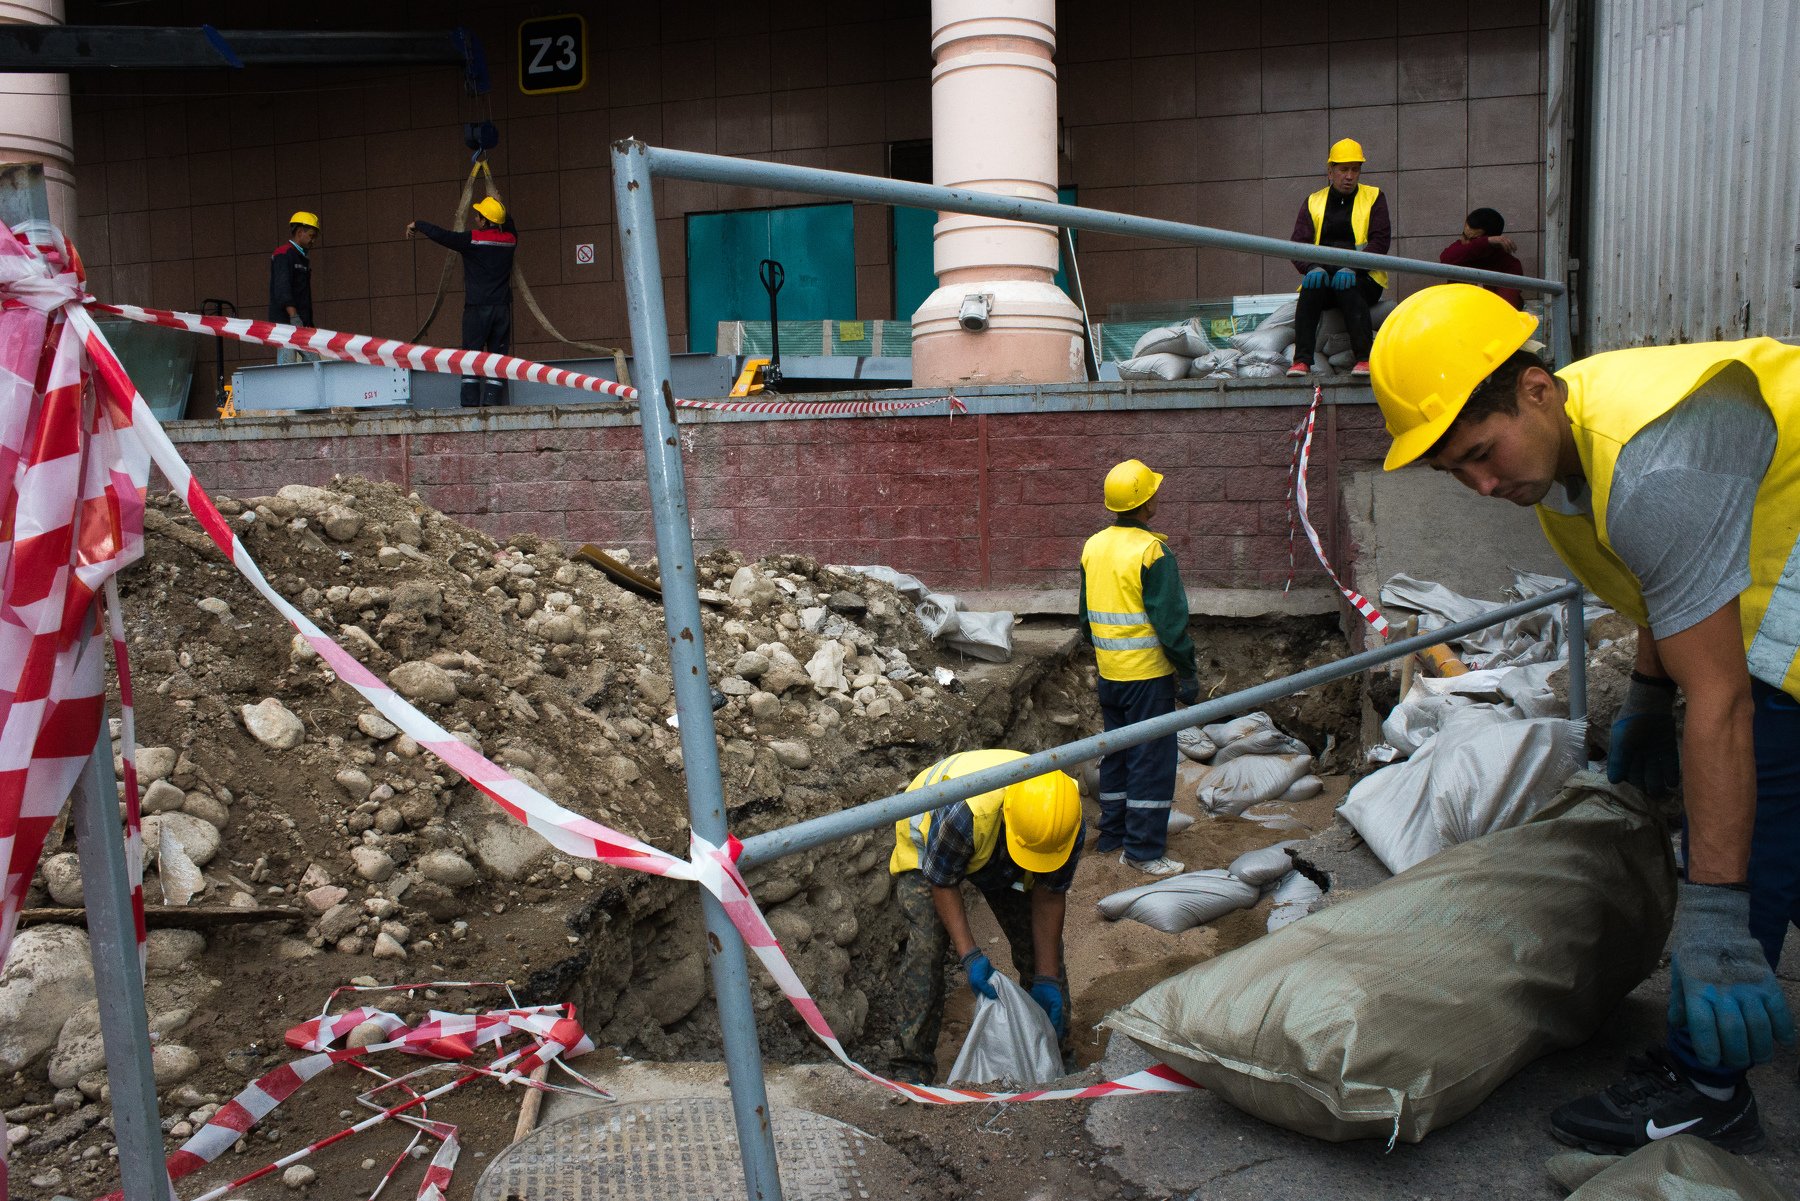
[[[169,2],[142,16],[70,0],[68,20],[198,25],[220,22],[216,7]],[[923,0],[562,7],[587,14],[590,81],[542,97],[518,94],[511,50],[517,20],[542,13],[536,4],[320,0],[295,14],[245,0],[230,23],[475,29],[495,81],[493,164],[522,230],[520,265],[565,335],[605,344],[628,339],[607,166],[614,139],[884,175],[891,142],[931,137]],[[1066,0],[1057,5],[1062,182],[1087,205],[1285,238],[1300,200],[1321,185],[1325,148],[1354,135],[1370,155],[1368,180],[1390,194],[1397,254],[1435,259],[1471,207],[1492,205],[1535,270],[1541,9],[1543,0]],[[283,221],[313,209],[324,221],[317,319],[410,337],[443,250],[405,241],[401,229],[414,216],[452,220],[468,169],[459,122],[482,115],[459,88],[454,68],[76,76],[76,234],[94,292],[169,308],[227,297],[259,315]],[[684,214],[796,200],[657,185],[677,349],[686,346]],[[576,265],[578,243],[594,243],[592,265]],[[857,313],[842,315],[895,317],[886,209],[857,205],[855,247]],[[1100,236],[1084,238],[1082,279],[1096,313],[1294,283],[1285,261]],[[459,306],[452,274],[437,340],[454,344]],[[560,355],[527,313],[515,324],[518,353]],[[268,358],[239,346],[229,355]]]

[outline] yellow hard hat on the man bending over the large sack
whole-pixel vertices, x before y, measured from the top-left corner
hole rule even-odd
[[[1400,301],[1375,331],[1370,384],[1388,421],[1384,466],[1402,468],[1444,438],[1476,385],[1532,337],[1537,319],[1487,288],[1447,283]]]

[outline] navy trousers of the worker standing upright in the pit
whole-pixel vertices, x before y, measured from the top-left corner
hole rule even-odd
[[[1175,677],[1100,681],[1100,722],[1118,729],[1175,709]],[[1100,760],[1100,850],[1125,850],[1139,862],[1168,846],[1175,803],[1175,735],[1114,751]]]

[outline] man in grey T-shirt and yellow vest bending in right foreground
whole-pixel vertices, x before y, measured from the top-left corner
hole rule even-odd
[[[1550,1125],[1604,1152],[1678,1131],[1748,1151],[1746,1070],[1795,1041],[1773,965],[1800,922],[1800,348],[1651,346],[1552,373],[1535,324],[1483,288],[1426,288],[1382,324],[1373,387],[1388,470],[1424,459],[1537,506],[1570,571],[1638,623],[1607,774],[1687,780],[1667,1043]]]

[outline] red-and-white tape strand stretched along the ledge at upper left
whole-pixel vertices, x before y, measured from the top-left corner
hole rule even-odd
[[[414,371],[437,371],[445,375],[479,375],[488,380],[524,380],[527,384],[551,384],[556,387],[574,387],[583,393],[601,393],[619,400],[637,400],[637,389],[603,380],[596,375],[581,375],[565,367],[515,358],[513,355],[493,355],[488,351],[452,351],[437,346],[418,346],[398,339],[374,339],[365,333],[338,333],[337,330],[315,330],[310,326],[284,326],[274,321],[252,321],[248,317],[202,317],[200,313],[176,313],[166,308],[140,308],[137,304],[99,304],[90,303],[97,313],[140,321],[149,326],[185,330],[189,333],[211,333],[212,337],[256,342],[259,346],[290,346],[299,351],[311,351],[326,358],[344,358],[349,362],[376,364],[382,367],[410,367]],[[851,414],[875,416],[882,412],[902,412],[905,409],[929,409],[949,403],[950,412],[968,412],[967,405],[954,394],[925,400],[675,400],[677,409],[713,409],[722,412],[760,412],[760,414]]]

